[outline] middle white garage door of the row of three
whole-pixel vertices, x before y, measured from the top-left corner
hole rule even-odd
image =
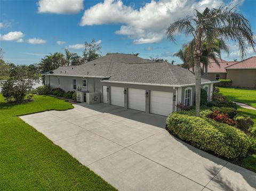
[[[145,89],[128,89],[128,108],[133,110],[146,110],[146,90]]]

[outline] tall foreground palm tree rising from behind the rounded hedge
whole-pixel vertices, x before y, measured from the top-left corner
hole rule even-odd
[[[195,46],[193,46],[196,78],[195,114],[199,116],[203,43],[213,44],[215,39],[236,41],[243,59],[247,48],[252,47],[255,52],[255,39],[251,24],[234,7],[220,6],[218,9],[206,8],[202,13],[195,10],[194,16],[178,19],[167,29],[167,37],[171,41],[175,41],[174,35],[176,32],[192,36],[195,40]]]

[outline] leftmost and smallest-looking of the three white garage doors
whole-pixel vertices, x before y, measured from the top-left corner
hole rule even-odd
[[[112,105],[124,107],[124,88],[111,86],[110,97]]]

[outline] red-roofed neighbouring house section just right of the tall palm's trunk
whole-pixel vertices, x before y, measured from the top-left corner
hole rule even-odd
[[[217,64],[215,61],[210,60],[210,63],[208,65],[208,77],[219,80],[219,79],[227,79],[227,71],[226,67],[229,65],[235,64],[237,62],[227,62],[225,60],[221,60],[218,58],[219,64]]]

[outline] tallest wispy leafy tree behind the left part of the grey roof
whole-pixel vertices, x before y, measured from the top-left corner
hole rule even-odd
[[[86,41],[84,46],[83,60],[85,62],[90,62],[101,57],[101,46],[95,41],[95,39],[92,39],[91,43]]]

